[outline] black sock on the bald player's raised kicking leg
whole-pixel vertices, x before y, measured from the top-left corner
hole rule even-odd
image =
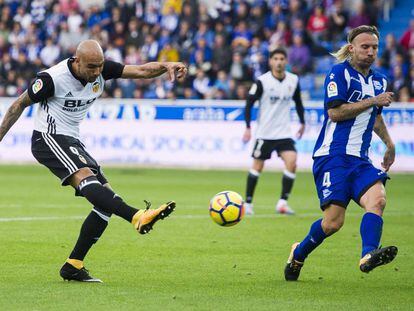
[[[104,187],[95,176],[82,180],[78,186],[80,193],[94,206],[108,213],[115,214],[131,222],[138,210],[126,204],[121,197],[112,190]]]

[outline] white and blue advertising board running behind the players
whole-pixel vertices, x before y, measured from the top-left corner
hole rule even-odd
[[[11,99],[0,104],[0,118]],[[34,162],[30,142],[34,108],[28,109],[0,143],[0,163]],[[248,168],[253,142],[245,145],[240,101],[99,100],[81,126],[82,142],[98,162],[189,168]],[[298,128],[292,109],[292,129]],[[255,112],[253,113],[255,115]],[[383,112],[397,147],[394,171],[414,172],[414,105],[395,105]],[[312,150],[322,126],[320,102],[306,104],[307,128],[296,142],[299,169],[312,167]],[[253,122],[254,130],[254,122]],[[375,137],[371,159],[380,166],[385,146]],[[275,155],[266,163],[281,168]]]

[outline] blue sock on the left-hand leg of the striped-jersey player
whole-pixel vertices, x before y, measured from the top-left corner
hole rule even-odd
[[[296,247],[293,252],[293,258],[297,261],[305,261],[306,257],[308,257],[308,255],[317,248],[326,237],[327,235],[322,229],[322,219],[318,219],[312,224],[308,235],[302,242],[300,242],[299,246]]]

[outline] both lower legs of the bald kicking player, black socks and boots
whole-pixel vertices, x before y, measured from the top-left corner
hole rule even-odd
[[[78,241],[60,270],[65,280],[82,282],[101,282],[93,278],[84,268],[83,259],[89,249],[99,239],[108,225],[112,214],[131,222],[141,234],[148,233],[159,219],[167,217],[175,207],[174,202],[161,205],[158,209],[135,209],[127,205],[116,195],[109,184],[101,185],[89,168],[82,168],[73,174],[69,183],[94,205],[92,212],[85,219]]]

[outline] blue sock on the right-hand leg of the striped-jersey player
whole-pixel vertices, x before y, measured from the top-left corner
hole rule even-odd
[[[361,220],[362,255],[377,249],[381,240],[383,220],[374,213],[365,213]]]

